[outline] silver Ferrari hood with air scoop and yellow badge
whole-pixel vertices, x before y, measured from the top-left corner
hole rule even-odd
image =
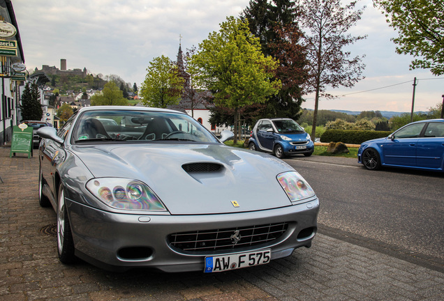
[[[172,215],[291,205],[276,176],[294,169],[262,153],[217,144],[103,144],[73,146],[73,153],[95,178],[147,184]]]

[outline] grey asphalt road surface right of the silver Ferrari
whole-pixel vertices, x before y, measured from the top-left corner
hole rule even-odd
[[[367,171],[348,158],[294,157],[286,161],[320,198],[321,233],[353,235],[370,245],[437,266],[444,264],[444,174]]]

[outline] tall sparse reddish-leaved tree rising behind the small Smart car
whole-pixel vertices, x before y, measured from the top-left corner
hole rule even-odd
[[[306,92],[315,93],[315,107],[313,111],[313,125],[316,125],[318,116],[319,98],[332,98],[325,93],[327,86],[352,87],[361,77],[365,65],[360,56],[350,59],[350,52],[343,51],[347,45],[367,36],[351,36],[346,34],[351,26],[361,19],[362,10],[354,10],[356,2],[345,7],[341,0],[299,0],[298,16],[304,34],[309,61],[309,77]],[[313,126],[311,137],[314,139],[316,127]]]

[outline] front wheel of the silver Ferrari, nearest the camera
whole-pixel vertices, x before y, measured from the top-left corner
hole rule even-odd
[[[73,233],[66,210],[63,185],[59,186],[57,203],[57,252],[61,263],[70,264],[75,261]]]

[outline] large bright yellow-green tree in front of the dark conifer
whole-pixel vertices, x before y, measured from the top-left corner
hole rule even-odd
[[[192,71],[197,86],[212,91],[216,105],[234,109],[236,143],[239,108],[265,102],[279,91],[281,82],[272,79],[276,61],[262,54],[248,22],[227,17],[220,26],[199,44],[190,69],[198,70]]]

